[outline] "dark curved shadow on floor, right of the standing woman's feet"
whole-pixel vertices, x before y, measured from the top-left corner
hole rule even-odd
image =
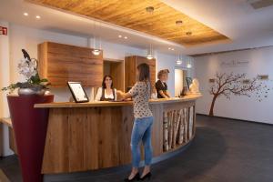
[[[217,130],[199,126],[187,151],[153,167],[153,181],[196,181],[196,177],[204,176],[217,165],[226,150],[225,138]]]

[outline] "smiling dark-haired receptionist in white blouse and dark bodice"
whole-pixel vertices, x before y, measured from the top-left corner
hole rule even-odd
[[[95,101],[113,100],[116,100],[116,88],[113,86],[113,78],[112,76],[104,76],[102,87],[98,88]]]

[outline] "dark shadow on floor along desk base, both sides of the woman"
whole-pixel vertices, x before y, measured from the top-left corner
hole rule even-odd
[[[207,126],[197,127],[197,136],[186,151],[177,154],[177,156],[159,162],[152,167],[153,178],[151,181],[195,181],[195,177],[203,176],[207,170],[217,165],[217,161],[225,155],[225,139],[215,129]],[[194,170],[192,170],[194,168]],[[75,174],[74,177],[67,179],[61,177],[58,181],[123,181],[129,174],[130,169],[107,171],[106,174],[100,172],[90,172],[83,176]],[[45,177],[46,178],[46,177]],[[65,179],[66,178],[66,179]],[[51,181],[48,178],[46,181]],[[55,180],[56,181],[56,178]]]

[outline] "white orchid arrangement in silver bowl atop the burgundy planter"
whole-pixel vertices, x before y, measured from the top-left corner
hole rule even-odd
[[[19,74],[25,76],[25,82],[17,82],[9,86],[3,87],[2,91],[13,93],[18,88],[18,95],[41,95],[45,94],[45,90],[49,85],[48,80],[41,79],[38,73],[38,61],[30,58],[25,49],[22,49],[24,58],[18,64]]]

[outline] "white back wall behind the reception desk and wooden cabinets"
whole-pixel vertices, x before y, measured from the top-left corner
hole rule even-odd
[[[14,25],[7,22],[1,22],[0,25],[9,25],[8,37],[5,40],[1,36],[1,86],[7,86],[10,83],[23,81],[24,77],[18,74],[17,65],[23,57],[21,49],[24,48],[31,57],[37,57],[37,45],[45,41],[52,41],[61,44],[88,46],[88,39],[75,35],[65,35],[45,30],[26,27],[23,25]],[[3,41],[2,41],[3,40]],[[4,46],[2,46],[2,44]],[[102,49],[104,57],[112,59],[124,59],[125,56],[146,56],[147,50],[139,49],[136,47],[126,45],[116,45],[106,41],[102,41]],[[5,54],[2,54],[4,52]],[[155,51],[157,58],[157,71],[160,69],[169,69],[170,76],[168,81],[169,90],[172,96],[175,94],[175,66],[176,56],[168,56]],[[5,60],[5,62],[3,62]],[[51,92],[55,95],[55,101],[68,101],[71,96],[68,88],[52,88]],[[86,88],[86,92],[91,95],[91,88]],[[1,110],[6,111],[8,114],[8,107],[5,102],[6,98],[3,93],[1,97],[4,102],[0,100]],[[7,134],[5,133],[5,143],[7,144]],[[7,148],[7,147],[5,147]]]

